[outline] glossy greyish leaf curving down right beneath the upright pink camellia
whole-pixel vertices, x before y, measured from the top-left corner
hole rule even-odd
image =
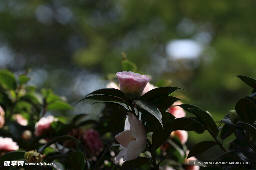
[[[161,112],[157,109],[157,107],[155,105],[153,105],[150,102],[144,101],[144,100],[133,100],[134,104],[136,104],[136,106],[138,108],[141,108],[145,111],[147,111],[148,113],[152,114],[153,116],[155,116],[157,118],[157,120],[161,123],[162,127],[163,123],[162,123],[162,114]]]

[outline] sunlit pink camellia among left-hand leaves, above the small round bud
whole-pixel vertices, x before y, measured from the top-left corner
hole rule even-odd
[[[47,130],[51,129],[51,123],[58,121],[57,118],[54,116],[49,115],[47,117],[42,117],[38,122],[35,124],[35,136],[40,136],[44,134]]]

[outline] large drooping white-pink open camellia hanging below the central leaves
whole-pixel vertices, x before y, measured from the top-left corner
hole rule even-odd
[[[130,112],[126,117],[124,131],[115,136],[122,149],[115,161],[121,157],[123,161],[136,159],[146,147],[147,134],[142,122]]]

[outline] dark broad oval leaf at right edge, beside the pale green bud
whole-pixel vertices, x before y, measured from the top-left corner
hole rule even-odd
[[[241,98],[237,101],[235,108],[238,116],[243,122],[252,125],[256,121],[256,106],[251,100]]]

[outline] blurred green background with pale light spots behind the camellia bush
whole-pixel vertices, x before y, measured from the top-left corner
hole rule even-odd
[[[251,93],[232,76],[256,77],[255,7],[252,0],[2,0],[0,68],[17,75],[31,68],[29,83],[74,106],[105,87],[107,73],[122,71],[124,51],[151,83],[172,80],[186,89],[184,103],[220,121]],[[90,105],[80,102],[75,113],[98,115],[101,107]],[[188,148],[203,140],[212,139],[189,132]]]

